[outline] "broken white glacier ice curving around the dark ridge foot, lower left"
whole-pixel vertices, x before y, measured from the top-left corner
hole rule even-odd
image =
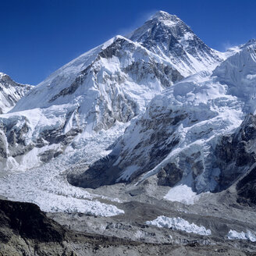
[[[115,205],[98,201],[102,198],[120,203],[118,198],[91,194],[83,188],[71,186],[66,180],[66,169],[70,170],[75,164],[90,165],[107,155],[109,151],[105,149],[125,128],[126,125],[117,124],[108,131],[91,133],[90,136],[82,133],[74,142],[75,148],[67,148],[63,155],[51,162],[32,169],[26,169],[24,163],[15,170],[1,171],[0,194],[9,200],[37,204],[45,212],[83,212],[100,216],[123,214],[123,210]],[[30,165],[29,161],[37,161],[35,159],[33,155],[27,155],[27,165]]]

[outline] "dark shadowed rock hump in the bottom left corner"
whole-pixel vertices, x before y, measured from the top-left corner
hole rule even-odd
[[[60,255],[65,239],[66,229],[37,205],[0,200],[0,255]]]

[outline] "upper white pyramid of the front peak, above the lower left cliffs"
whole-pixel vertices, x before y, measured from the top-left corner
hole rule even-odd
[[[12,112],[69,103],[79,104],[85,116],[92,111],[115,115],[113,108],[125,108],[123,111],[128,113],[123,116],[134,115],[144,109],[151,93],[182,78],[172,63],[117,36],[57,70]]]

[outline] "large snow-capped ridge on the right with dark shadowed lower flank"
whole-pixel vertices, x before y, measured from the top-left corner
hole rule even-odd
[[[218,190],[222,170],[215,162],[216,144],[255,110],[251,93],[255,50],[255,41],[250,41],[213,76],[197,73],[155,96],[144,115],[132,120],[108,158],[69,181],[99,187],[140,182],[157,174],[159,185],[187,184],[198,193]]]

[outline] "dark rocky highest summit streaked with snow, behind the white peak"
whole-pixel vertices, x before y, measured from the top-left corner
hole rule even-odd
[[[168,59],[183,76],[212,70],[226,58],[204,44],[177,16],[163,11],[156,12],[128,37]]]

